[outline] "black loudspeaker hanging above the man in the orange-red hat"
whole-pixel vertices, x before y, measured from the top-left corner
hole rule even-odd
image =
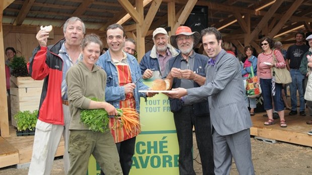
[[[184,25],[190,27],[193,32],[201,33],[201,30],[208,27],[208,7],[195,6]]]

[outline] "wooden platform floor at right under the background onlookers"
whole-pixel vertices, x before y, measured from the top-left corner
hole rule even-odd
[[[263,115],[266,113],[256,113],[255,116],[252,116],[253,127],[250,129],[251,135],[312,147],[312,136],[306,134],[312,129],[312,125],[305,123],[311,120],[312,117],[308,115],[307,110],[305,111],[307,114],[305,117],[299,116],[299,114],[289,116],[289,112],[285,110],[286,128],[280,127],[279,119],[275,120],[274,125],[265,126],[264,122],[268,118],[263,117]]]

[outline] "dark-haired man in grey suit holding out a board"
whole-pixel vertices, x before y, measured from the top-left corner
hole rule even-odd
[[[177,88],[171,98],[184,105],[208,97],[214,154],[214,173],[229,174],[232,157],[241,175],[255,174],[251,158],[250,113],[244,101],[239,60],[221,48],[221,34],[209,27],[201,32],[204,50],[210,58],[205,84],[192,89]]]

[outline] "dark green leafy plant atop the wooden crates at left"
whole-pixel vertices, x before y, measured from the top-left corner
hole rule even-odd
[[[9,67],[11,68],[12,76],[29,76],[27,63],[24,56],[15,56],[9,64]]]

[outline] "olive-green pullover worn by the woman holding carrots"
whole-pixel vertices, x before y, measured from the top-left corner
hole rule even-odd
[[[72,66],[66,73],[67,93],[70,110],[69,130],[89,130],[80,121],[81,109],[89,109],[91,100],[105,100],[106,72],[97,65],[90,71],[81,61]]]

